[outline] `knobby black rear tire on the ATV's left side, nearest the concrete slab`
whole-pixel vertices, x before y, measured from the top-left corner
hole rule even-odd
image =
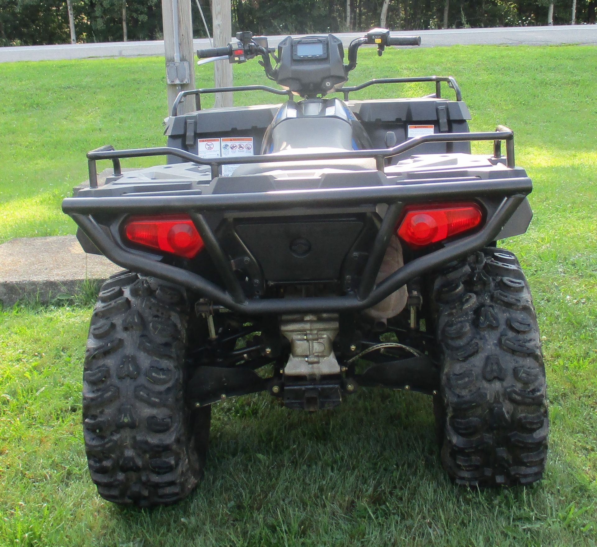
[[[185,497],[201,478],[211,408],[184,402],[189,305],[184,290],[122,272],[101,287],[83,378],[85,451],[110,502]]]

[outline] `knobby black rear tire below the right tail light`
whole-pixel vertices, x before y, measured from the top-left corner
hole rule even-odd
[[[547,454],[537,319],[516,257],[486,248],[435,280],[441,459],[458,484],[531,484]],[[438,429],[439,429],[438,428]]]

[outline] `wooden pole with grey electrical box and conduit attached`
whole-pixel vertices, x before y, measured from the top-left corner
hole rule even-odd
[[[190,0],[162,0],[162,21],[164,22],[168,115],[170,115],[174,99],[180,91],[195,89]],[[193,110],[195,110],[193,100],[186,100],[179,106],[179,113]]]

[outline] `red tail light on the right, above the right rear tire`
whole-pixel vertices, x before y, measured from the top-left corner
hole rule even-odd
[[[475,203],[407,205],[405,211],[404,219],[396,226],[396,234],[414,248],[475,228],[483,217]]]

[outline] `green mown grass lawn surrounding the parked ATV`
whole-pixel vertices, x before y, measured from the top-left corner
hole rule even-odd
[[[535,216],[504,245],[525,267],[543,337],[551,435],[540,484],[451,485],[418,394],[361,392],[317,414],[256,395],[216,406],[205,480],[189,499],[118,508],[97,496],[82,444],[91,308],[16,306],[0,311],[0,545],[595,545],[596,59],[595,47],[366,51],[353,73],[451,73],[472,129],[515,130]],[[209,85],[201,70],[198,87]],[[260,67],[235,67],[235,83],[250,82],[264,82]],[[161,59],[0,64],[0,241],[73,233],[60,201],[86,178],[84,153],[164,143],[164,87]],[[271,99],[236,103],[256,100]]]

